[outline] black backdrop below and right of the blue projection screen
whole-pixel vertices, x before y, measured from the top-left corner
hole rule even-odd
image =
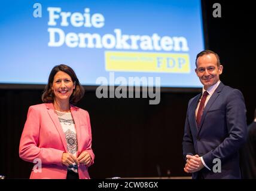
[[[224,65],[221,81],[245,96],[248,124],[255,101],[255,34],[249,1],[218,1],[221,18],[212,16],[215,1],[203,1],[206,47],[216,51]],[[56,63],[59,64],[59,63]],[[19,158],[19,140],[28,107],[41,103],[42,90],[0,89],[0,174],[28,178],[32,165]],[[147,98],[98,99],[87,91],[77,106],[90,113],[95,165],[92,178],[185,176],[182,134],[188,100],[194,91],[161,93],[158,105]],[[160,172],[160,173],[159,173]]]

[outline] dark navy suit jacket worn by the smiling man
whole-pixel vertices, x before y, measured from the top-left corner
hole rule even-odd
[[[203,110],[200,127],[196,107],[202,93],[188,103],[183,137],[183,156],[199,155],[211,168],[192,174],[193,178],[240,178],[239,147],[246,139],[246,108],[239,90],[218,85]],[[221,160],[221,172],[214,172],[214,159]]]

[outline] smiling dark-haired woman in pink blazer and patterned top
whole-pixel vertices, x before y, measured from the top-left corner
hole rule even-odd
[[[89,113],[72,105],[83,95],[71,67],[51,70],[44,103],[29,107],[20,139],[20,158],[35,164],[30,178],[90,178],[95,155]]]

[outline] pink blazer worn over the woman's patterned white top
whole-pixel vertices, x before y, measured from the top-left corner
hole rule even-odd
[[[79,107],[71,106],[72,117],[75,121],[78,142],[78,156],[86,150],[92,157],[92,131],[89,113]],[[67,167],[62,165],[62,153],[67,151],[65,134],[63,133],[58,116],[52,103],[42,103],[29,107],[28,117],[20,138],[19,155],[25,161],[35,164],[30,178],[65,179]],[[41,161],[41,172],[37,168]],[[78,167],[80,178],[90,178],[88,167]]]

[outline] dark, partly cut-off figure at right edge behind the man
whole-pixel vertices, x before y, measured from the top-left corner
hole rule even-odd
[[[240,149],[242,178],[256,179],[256,109],[254,121],[248,126],[246,143]]]

